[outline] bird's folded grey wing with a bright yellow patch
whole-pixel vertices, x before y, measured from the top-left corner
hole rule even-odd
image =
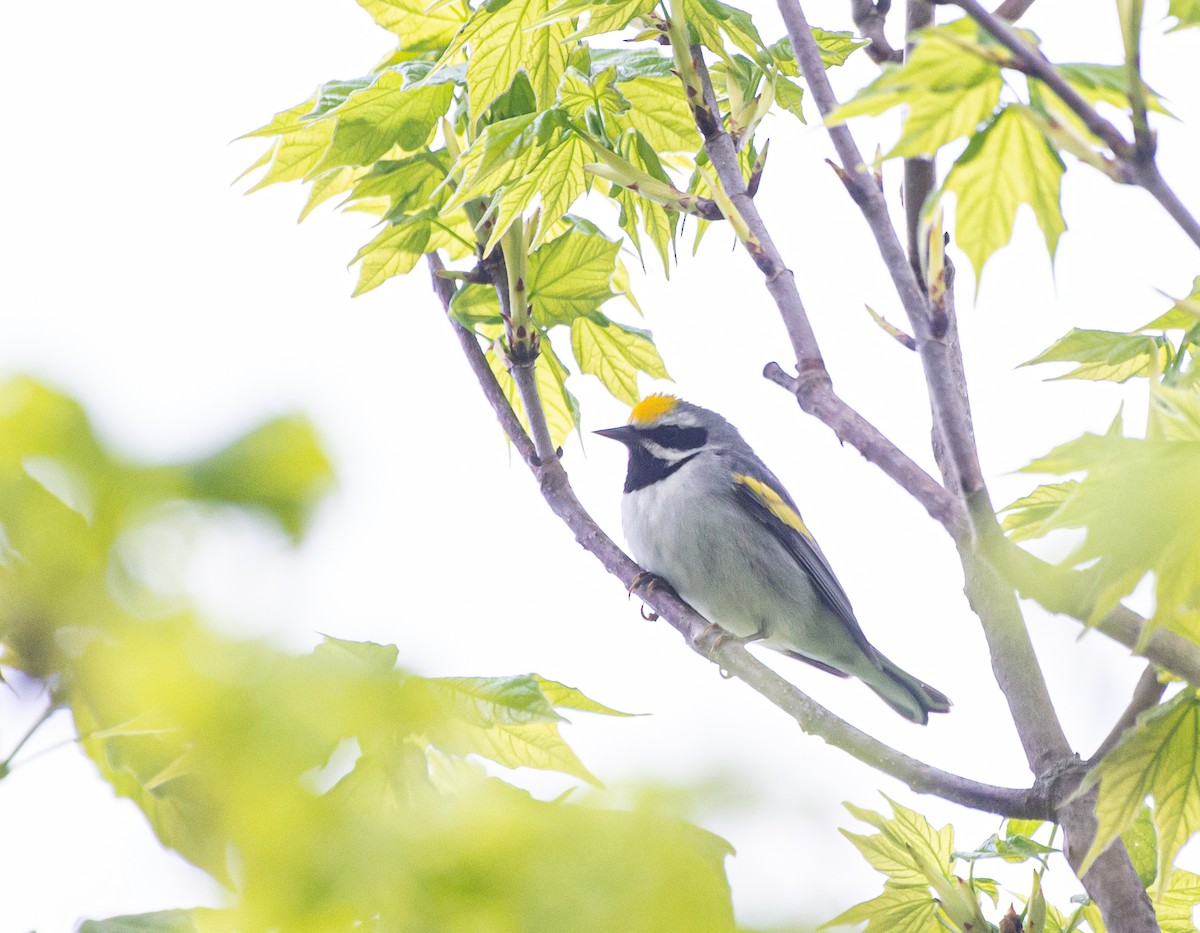
[[[875,649],[866,640],[866,636],[863,634],[863,630],[854,618],[850,597],[838,583],[838,578],[833,576],[829,562],[805,526],[804,519],[800,518],[800,513],[787,490],[774,476],[770,476],[769,480],[760,480],[746,472],[739,472],[737,469],[733,472],[733,489],[746,512],[774,535],[775,540],[800,565],[800,570],[812,582],[817,596],[846,627],[856,644],[866,652],[868,657],[874,657]]]

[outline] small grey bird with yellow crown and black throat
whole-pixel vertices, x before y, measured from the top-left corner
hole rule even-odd
[[[792,496],[725,417],[656,393],[595,433],[629,450],[620,514],[637,562],[722,633],[858,678],[910,722],[949,711],[866,640]]]

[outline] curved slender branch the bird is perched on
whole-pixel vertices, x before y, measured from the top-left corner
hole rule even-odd
[[[443,266],[437,255],[430,255],[427,260],[433,278],[433,290],[442,302],[443,311],[449,311],[450,300],[455,293],[454,283],[438,275],[443,271]],[[632,586],[642,572],[641,567],[604,532],[584,510],[558,458],[547,461],[538,457],[533,441],[529,440],[509,405],[504,391],[497,384],[479,341],[449,314],[446,314],[446,319],[450,321],[463,355],[467,357],[484,396],[496,413],[500,427],[512,441],[521,459],[536,477],[542,498],[551,511],[571,529],[576,541],[596,558],[605,570],[617,577],[626,588]],[[974,809],[1006,817],[1051,818],[1050,788],[1040,784],[1031,789],[994,787],[910,758],[856,729],[814,702],[804,692],[755,658],[736,639],[714,638],[713,628],[708,621],[668,588],[659,586],[652,592],[638,594],[638,596],[683,636],[689,648],[744,681],[751,690],[794,718],[804,732],[820,736],[859,762],[890,775],[916,793],[936,794]]]

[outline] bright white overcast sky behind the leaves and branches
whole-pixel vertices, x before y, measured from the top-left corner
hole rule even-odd
[[[748,4],[782,34],[773,4]],[[1022,25],[1056,60],[1115,62],[1110,4],[1042,0]],[[848,4],[811,0],[809,18],[848,26]],[[1200,209],[1200,31],[1156,38],[1165,2],[1150,4],[1146,73],[1181,125],[1164,120],[1162,164]],[[899,17],[896,17],[899,19]],[[203,453],[269,416],[308,413],[340,487],[298,552],[254,524],[202,538],[190,580],[230,632],[305,650],[317,632],[397,643],[428,675],[536,670],[637,720],[580,715],[565,729],[618,794],[640,782],[713,784],[698,821],[738,849],[730,875],[746,925],[828,919],[878,891],[880,879],[835,826],[850,800],[883,808],[882,789],[972,848],[998,819],[917,797],[806,738],[749,688],[722,680],[664,622],[643,621],[618,582],[576,547],[514,462],[469,377],[421,270],[349,299],[344,264],[370,218],[320,209],[304,225],[298,186],[244,198],[232,180],[260,140],[228,140],[304,100],[318,83],[365,73],[390,47],[352,0],[216,0],[204,5],[6,4],[0,72],[8,180],[0,225],[0,373],[32,373],[77,395],[104,434],[149,459]],[[835,74],[845,97],[870,79],[864,54]],[[1192,92],[1190,98],[1187,95]],[[881,124],[884,148],[894,140]],[[875,148],[859,121],[860,148]],[[878,331],[869,303],[902,314],[857,210],[822,163],[815,114],[764,127],[772,157],[758,203],[822,341],[839,392],[932,470],[928,402],[916,356]],[[889,193],[899,163],[886,170]],[[1012,471],[1084,429],[1102,429],[1136,389],[1046,384],[1016,369],[1072,326],[1129,329],[1165,308],[1153,288],[1186,294],[1194,247],[1150,197],[1070,164],[1069,231],[1054,277],[1031,217],[989,265],[978,307],[959,253],[972,404],[997,505],[1033,484]],[[856,681],[767,660],[856,724],[918,758],[995,783],[1028,772],[961,576],[942,530],[853,450],[760,375],[785,368],[782,326],[749,259],[714,228],[698,260],[680,243],[670,284],[635,270],[647,326],[686,398],[742,428],[788,484],[851,595],[871,640],[955,702],[925,729]],[[653,260],[656,263],[656,260]],[[636,263],[631,263],[636,266]],[[629,323],[629,308],[613,314]],[[644,386],[647,390],[649,385]],[[572,389],[584,428],[628,413],[592,378]],[[1134,421],[1136,419],[1134,417]],[[619,538],[624,451],[572,440],[580,496]],[[1058,541],[1043,553],[1061,554]],[[517,567],[520,566],[520,570]],[[1090,754],[1123,709],[1141,663],[1079,625],[1030,620],[1068,734]],[[769,652],[767,652],[769,655]],[[0,691],[0,750],[35,715],[34,698]],[[66,717],[26,748],[70,735]],[[560,787],[533,778],[529,785]],[[73,747],[0,783],[0,933],[66,931],[79,917],[215,903],[211,881],[154,841]],[[1075,889],[1060,867],[1052,887]],[[1027,873],[1019,884],[1027,884]]]

